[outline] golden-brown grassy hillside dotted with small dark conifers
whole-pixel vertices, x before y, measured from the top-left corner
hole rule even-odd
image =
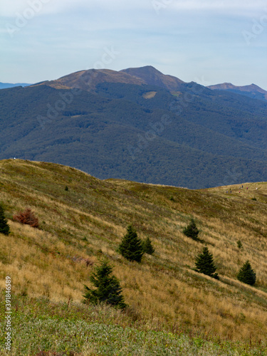
[[[77,327],[77,323],[81,323],[79,330],[92,335],[99,333],[99,330],[93,332],[90,329],[97,323],[110,325],[103,326],[106,328],[103,333],[107,335],[113,333],[112,325],[120,325],[121,329],[116,330],[120,330],[123,337],[118,331],[116,342],[125,339],[129,345],[131,342],[125,328],[166,332],[160,334],[161,337],[159,334],[142,336],[138,334],[141,331],[131,331],[137,333],[132,336],[135,342],[143,337],[145,343],[138,344],[141,347],[139,353],[123,353],[124,346],[116,344],[117,355],[150,355],[149,348],[142,354],[142,347],[154,345],[146,339],[152,336],[160,343],[159,350],[164,347],[164,342],[168,347],[174,347],[173,353],[166,355],[179,355],[175,347],[178,347],[181,333],[194,337],[184,339],[188,347],[193,347],[190,349],[192,355],[266,355],[260,350],[266,345],[267,335],[267,183],[248,183],[244,184],[244,189],[239,187],[232,186],[231,194],[226,194],[229,187],[194,191],[116,179],[100,181],[58,164],[18,159],[1,161],[0,200],[9,218],[11,235],[7,238],[0,234],[0,286],[4,288],[4,278],[10,275],[16,295],[14,320],[17,336],[14,345],[19,347],[22,337],[26,342],[23,350],[30,350],[33,341],[36,349],[31,350],[38,350],[38,345],[44,345],[43,337],[46,339],[49,325],[55,330],[53,323],[60,325],[60,330],[64,330],[64,323],[68,325],[66,335],[70,334],[63,346],[73,345],[74,325]],[[12,221],[12,216],[26,207],[31,207],[38,216],[39,229]],[[201,230],[199,237],[203,243],[182,234],[192,217]],[[156,249],[155,255],[145,255],[140,264],[128,262],[116,252],[130,223],[142,239],[150,236]],[[237,247],[239,240],[242,249]],[[192,269],[194,258],[204,244],[214,255],[219,281]],[[90,285],[93,268],[87,266],[85,260],[89,258],[93,264],[102,257],[108,258],[114,266],[115,276],[121,281],[125,301],[131,308],[126,314],[89,308],[86,315],[85,306],[80,305],[83,284]],[[236,280],[239,268],[247,259],[257,273],[253,287]],[[43,303],[38,299],[41,297],[46,298]],[[50,306],[48,300],[53,302]],[[55,321],[57,318],[61,323]],[[26,336],[27,328],[38,335],[42,340],[38,341],[40,344]],[[58,334],[51,331],[53,337],[48,341],[53,345],[47,341],[47,347],[56,350],[62,346],[55,346],[58,344],[54,340],[56,335],[60,337],[63,333],[60,330]],[[77,333],[80,335],[81,331]],[[196,340],[200,340],[200,346],[196,346]],[[205,343],[205,347],[211,348],[230,345],[225,344],[226,341],[246,342],[252,347],[256,345],[258,353],[239,351],[241,353],[234,354],[235,347],[244,350],[237,344],[231,346],[234,348],[229,346],[229,352],[233,353],[215,353],[214,350],[208,353],[208,349],[205,353],[203,340],[216,342]],[[96,355],[98,347],[105,344],[102,339],[95,341],[97,344],[92,350],[85,351],[84,347],[88,345],[84,342],[80,341],[80,346],[77,344],[71,350]],[[204,353],[198,354],[201,350]],[[112,352],[103,351],[100,355],[115,355]],[[151,351],[151,355],[157,353]],[[190,353],[181,351],[181,355]]]

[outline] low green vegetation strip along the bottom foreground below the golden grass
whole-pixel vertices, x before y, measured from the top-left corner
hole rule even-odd
[[[2,295],[1,295],[2,296]],[[3,299],[0,308],[3,310]],[[14,295],[12,351],[1,356],[262,356],[263,347],[211,342],[157,330],[109,305],[51,302]],[[4,341],[3,328],[0,330]]]

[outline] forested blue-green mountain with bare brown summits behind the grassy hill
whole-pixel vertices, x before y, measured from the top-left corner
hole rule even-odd
[[[0,159],[188,188],[265,181],[266,100],[229,88],[184,83],[146,66],[4,89]]]

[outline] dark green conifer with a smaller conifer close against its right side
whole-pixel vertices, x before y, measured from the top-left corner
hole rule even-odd
[[[129,261],[141,262],[144,254],[142,241],[132,225],[127,227],[127,234],[122,238],[118,251]]]

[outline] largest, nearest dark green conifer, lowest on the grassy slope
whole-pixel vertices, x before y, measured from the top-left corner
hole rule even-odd
[[[95,271],[90,276],[90,282],[96,289],[90,289],[85,286],[85,295],[83,303],[107,303],[115,308],[126,308],[124,298],[121,295],[122,288],[120,281],[115,276],[110,276],[112,267],[107,261],[103,261],[100,266],[95,267]]]

